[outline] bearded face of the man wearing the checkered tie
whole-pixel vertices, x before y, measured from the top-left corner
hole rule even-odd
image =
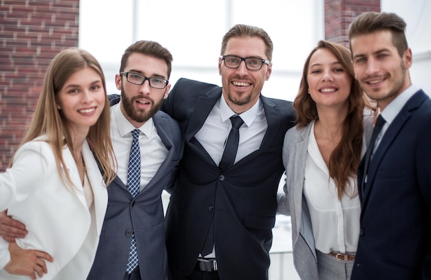
[[[124,72],[135,72],[145,77],[168,79],[167,63],[147,54],[133,52],[127,59]],[[116,74],[116,87],[121,90],[121,112],[136,128],[143,126],[162,106],[171,85],[166,88],[151,88],[146,80],[142,85],[129,83],[125,76]]]

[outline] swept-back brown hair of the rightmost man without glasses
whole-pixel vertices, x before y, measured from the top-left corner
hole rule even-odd
[[[392,34],[392,43],[399,56],[403,57],[408,48],[406,26],[406,22],[394,12],[364,12],[353,20],[348,29],[350,50],[353,37],[388,30]]]

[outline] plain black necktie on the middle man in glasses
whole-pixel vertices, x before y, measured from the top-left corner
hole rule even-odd
[[[222,155],[222,160],[220,161],[218,167],[220,170],[224,171],[227,168],[233,166],[235,162],[236,152],[238,150],[238,143],[240,142],[240,126],[244,121],[240,116],[235,115],[231,117],[232,129],[229,132],[229,137],[227,137],[226,146],[224,147],[224,152]]]

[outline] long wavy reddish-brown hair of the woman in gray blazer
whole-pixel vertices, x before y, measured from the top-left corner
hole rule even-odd
[[[341,140],[335,146],[332,154],[330,154],[328,166],[329,175],[335,181],[338,199],[341,200],[341,197],[346,193],[346,185],[349,178],[356,176],[357,168],[361,161],[362,135],[364,134],[363,113],[366,104],[368,107],[368,101],[359,83],[355,80],[350,50],[337,43],[319,41],[306,59],[299,92],[293,102],[293,107],[297,114],[297,126],[304,128],[308,123],[319,118],[316,103],[311,98],[311,95],[308,94],[307,81],[311,56],[319,49],[326,49],[332,52],[344,69],[346,69],[350,79],[352,79],[348,98],[348,114],[341,127]],[[355,191],[354,195],[356,194],[357,191]]]

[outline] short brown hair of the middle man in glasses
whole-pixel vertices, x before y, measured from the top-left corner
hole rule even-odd
[[[222,50],[220,51],[220,55],[224,55],[224,52],[227,48],[227,43],[231,38],[238,37],[258,37],[262,39],[265,43],[265,55],[266,58],[271,61],[273,59],[273,41],[269,37],[269,34],[266,33],[262,28],[258,28],[255,26],[246,26],[245,24],[236,24],[233,26],[226,34],[224,34],[222,41]]]

